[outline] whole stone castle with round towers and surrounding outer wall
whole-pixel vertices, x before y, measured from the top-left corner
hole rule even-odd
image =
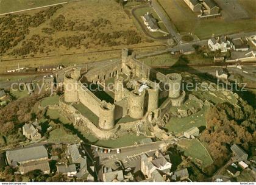
[[[132,125],[124,118],[133,123],[151,122],[171,106],[180,106],[185,99],[181,87],[180,74],[157,72],[123,49],[121,60],[111,64],[84,74],[80,68],[67,71],[60,108],[78,127],[88,128],[100,139],[109,139]],[[76,105],[84,107],[87,114]],[[95,119],[90,119],[91,115]]]

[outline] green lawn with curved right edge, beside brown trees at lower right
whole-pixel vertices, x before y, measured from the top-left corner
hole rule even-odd
[[[179,146],[184,151],[185,156],[190,156],[192,161],[199,159],[202,161],[202,168],[213,163],[212,157],[197,139],[180,139]]]

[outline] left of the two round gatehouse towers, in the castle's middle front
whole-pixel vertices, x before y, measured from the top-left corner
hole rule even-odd
[[[128,108],[129,116],[135,119],[140,119],[144,116],[144,103],[145,103],[145,91],[130,92]]]

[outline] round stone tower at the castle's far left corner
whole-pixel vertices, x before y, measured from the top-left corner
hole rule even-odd
[[[80,77],[80,68],[72,69],[64,74],[64,99],[65,102],[77,102],[77,80]]]

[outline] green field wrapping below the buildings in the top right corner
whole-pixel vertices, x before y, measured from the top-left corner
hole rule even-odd
[[[176,26],[176,29],[179,30],[180,33],[191,32],[201,39],[209,38],[213,33],[215,33],[215,35],[222,35],[242,31],[251,32],[256,29],[255,16],[253,16],[251,19],[238,19],[233,21],[226,20],[222,17],[212,19],[197,19],[196,13],[193,13],[188,5],[183,1],[158,0],[158,2],[165,7],[166,13],[169,15],[172,22]],[[254,11],[255,14],[256,6],[252,5],[252,1],[242,0],[240,4],[246,10],[249,10],[249,12],[253,13]],[[250,4],[252,10],[247,8]]]

